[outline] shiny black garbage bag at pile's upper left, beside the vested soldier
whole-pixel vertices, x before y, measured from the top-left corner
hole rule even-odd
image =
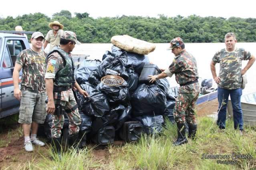
[[[97,66],[99,66],[101,63],[100,60],[89,60],[86,59],[83,61],[83,66],[80,66],[76,71],[76,81],[79,85],[84,84],[88,81],[89,75],[92,73],[92,71],[97,69]]]

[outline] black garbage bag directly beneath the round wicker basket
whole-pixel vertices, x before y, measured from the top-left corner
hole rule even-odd
[[[128,84],[124,81],[121,85],[109,86],[102,82],[96,87],[97,90],[105,93],[110,103],[128,103],[130,99]]]

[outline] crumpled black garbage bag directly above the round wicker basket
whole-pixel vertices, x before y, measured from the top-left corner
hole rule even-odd
[[[124,51],[118,56],[108,55],[101,63],[103,71],[106,69],[111,69],[120,73],[120,76],[123,79],[128,79],[128,74],[126,72],[126,63],[127,63],[127,53]]]

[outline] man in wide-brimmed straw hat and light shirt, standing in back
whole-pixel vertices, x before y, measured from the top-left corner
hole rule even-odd
[[[51,22],[49,27],[52,29],[48,31],[45,36],[44,49],[50,43],[49,51],[52,50],[53,47],[60,45],[60,36],[63,34],[64,26],[60,24],[58,21]]]

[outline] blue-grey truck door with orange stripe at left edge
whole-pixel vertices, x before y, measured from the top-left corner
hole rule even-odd
[[[16,56],[20,53],[20,51],[26,48],[23,40],[16,40],[16,38],[6,38],[3,47],[3,55],[0,67],[2,89],[1,117],[12,115],[19,111],[20,102],[14,97],[12,72],[14,69]],[[20,76],[21,74],[22,72],[20,72]]]

